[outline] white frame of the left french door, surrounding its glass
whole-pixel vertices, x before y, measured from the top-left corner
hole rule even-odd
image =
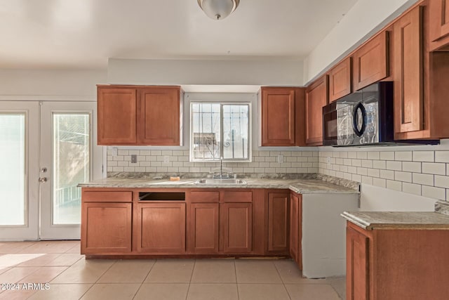
[[[39,238],[39,182],[37,179],[39,178],[39,103],[0,100],[0,112],[25,113],[26,174],[25,225],[0,226],[0,240],[37,240]]]

